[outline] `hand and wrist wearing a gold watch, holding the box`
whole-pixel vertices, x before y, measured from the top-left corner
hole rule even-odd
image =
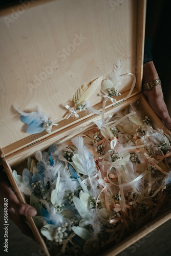
[[[144,64],[143,70],[143,83],[156,80],[159,76],[153,61]],[[154,87],[143,91],[143,94],[148,99],[149,105],[152,110],[158,115],[166,124],[169,130],[171,130],[171,118],[168,114],[166,104],[163,99],[163,92],[161,86]]]

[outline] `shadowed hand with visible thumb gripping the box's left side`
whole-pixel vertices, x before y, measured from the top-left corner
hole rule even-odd
[[[8,216],[19,227],[19,229],[34,239],[30,227],[24,220],[24,216],[33,217],[37,214],[36,210],[29,204],[21,203],[13,190],[5,173],[0,172],[0,203],[4,207],[4,198],[8,199]]]

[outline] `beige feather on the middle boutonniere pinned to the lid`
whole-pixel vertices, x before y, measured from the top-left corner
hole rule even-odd
[[[87,86],[81,86],[78,88],[77,92],[73,96],[73,101],[82,103],[86,101],[97,89],[102,81],[102,76],[99,76],[92,84]]]

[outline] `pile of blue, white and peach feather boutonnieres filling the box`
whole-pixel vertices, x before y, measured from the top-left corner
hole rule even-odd
[[[168,136],[132,105],[13,175],[56,255],[87,255],[170,207],[170,156]]]

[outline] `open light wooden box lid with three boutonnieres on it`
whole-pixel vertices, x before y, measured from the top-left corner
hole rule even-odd
[[[119,59],[123,74],[136,74],[141,90],[145,1],[136,0],[56,0],[20,2],[1,11],[1,113],[0,145],[12,152],[19,141],[29,144],[49,134],[29,135],[14,111],[34,111],[36,107],[57,118],[52,134],[89,114],[66,119],[65,105],[72,102],[78,88],[99,76],[105,79]],[[121,88],[121,100],[128,93],[130,79]],[[126,89],[125,89],[126,88]],[[100,86],[90,97],[102,107]],[[112,102],[106,103],[108,108]]]

